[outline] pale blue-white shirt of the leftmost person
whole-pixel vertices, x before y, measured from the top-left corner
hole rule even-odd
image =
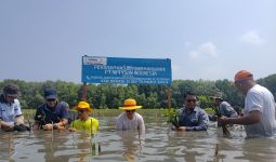
[[[0,102],[0,118],[2,121],[14,125],[14,119],[22,114],[21,104],[18,99],[14,99],[13,103],[1,103]]]

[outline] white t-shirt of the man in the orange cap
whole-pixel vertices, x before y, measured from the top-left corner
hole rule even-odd
[[[259,84],[255,84],[248,91],[245,100],[246,116],[254,110],[261,112],[261,121],[259,123],[245,125],[247,136],[273,136],[276,131],[275,100],[273,94],[266,87]]]

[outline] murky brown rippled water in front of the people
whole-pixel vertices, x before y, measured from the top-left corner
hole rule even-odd
[[[116,132],[114,117],[98,117],[100,132],[91,137],[84,132],[25,133],[0,132],[0,162],[67,161],[276,161],[275,138],[245,139],[240,126],[222,135],[215,123],[207,132],[173,132],[162,118],[144,117],[146,134]]]

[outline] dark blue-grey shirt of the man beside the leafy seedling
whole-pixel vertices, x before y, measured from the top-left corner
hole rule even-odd
[[[208,114],[199,107],[195,107],[193,110],[180,109],[179,124],[185,126],[186,131],[207,131],[208,123]]]

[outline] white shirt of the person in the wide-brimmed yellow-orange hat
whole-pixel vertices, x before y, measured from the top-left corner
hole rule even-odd
[[[134,112],[132,120],[130,120],[126,112],[121,112],[116,119],[116,130],[139,130],[140,133],[144,134],[145,124],[143,117]]]

